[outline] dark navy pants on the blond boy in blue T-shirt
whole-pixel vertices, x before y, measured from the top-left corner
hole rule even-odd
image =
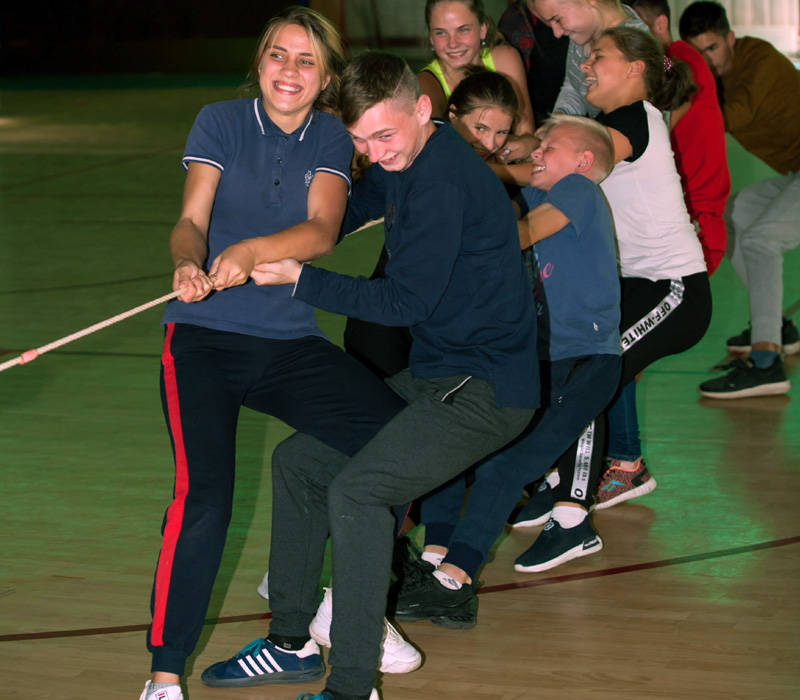
[[[549,378],[549,400],[519,438],[478,465],[463,517],[459,517],[465,495],[463,477],[423,499],[426,544],[448,547],[445,561],[474,578],[503,532],[525,484],[544,474],[605,409],[617,388],[620,364],[619,355],[543,363],[541,376],[543,383]],[[598,432],[602,431],[592,430],[590,436]],[[588,447],[602,456],[604,446]],[[595,462],[594,469],[598,469],[599,458]],[[590,474],[583,469],[573,471],[572,482],[565,486],[568,494],[578,493],[579,497],[570,500],[591,504],[587,501],[590,489],[581,487],[591,482]]]

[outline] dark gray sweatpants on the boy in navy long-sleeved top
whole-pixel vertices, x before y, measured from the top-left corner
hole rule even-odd
[[[466,376],[387,383],[408,402],[348,459],[295,433],[272,458],[270,631],[305,636],[330,532],[333,563],[332,666],[327,687],[367,694],[375,685],[391,578],[394,519],[406,503],[516,437],[533,409],[498,406],[491,384]]]

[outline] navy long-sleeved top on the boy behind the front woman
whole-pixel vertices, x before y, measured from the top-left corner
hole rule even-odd
[[[408,326],[415,376],[469,374],[491,382],[501,406],[538,406],[536,315],[514,210],[497,176],[446,124],[406,170],[368,168],[353,188],[344,231],[379,216],[385,278],[304,265],[295,297]]]

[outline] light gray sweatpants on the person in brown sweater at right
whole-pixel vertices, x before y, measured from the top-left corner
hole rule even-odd
[[[783,254],[800,244],[800,172],[745,187],[725,214],[728,255],[750,299],[751,340],[780,345]]]

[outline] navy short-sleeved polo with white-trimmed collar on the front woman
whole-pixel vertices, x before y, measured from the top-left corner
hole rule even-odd
[[[308,219],[308,188],[318,172],[350,184],[353,144],[341,121],[312,110],[285,133],[259,98],[206,105],[189,132],[183,167],[191,162],[217,168],[220,181],[208,230],[205,267],[225,248],[245,238],[277,233]],[[314,309],[292,297],[292,286],[244,285],[213,292],[191,304],[173,300],[162,323],[189,323],[263,338],[322,335]]]

